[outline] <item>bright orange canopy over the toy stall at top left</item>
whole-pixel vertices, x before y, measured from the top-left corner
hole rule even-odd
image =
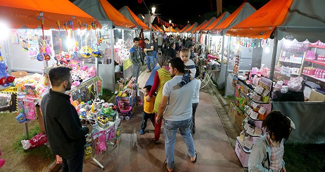
[[[65,22],[72,21],[73,29],[80,28],[79,21],[80,29],[85,28],[82,24],[91,26],[95,22],[92,16],[68,0],[2,0],[0,3],[0,19],[6,21],[12,29],[24,26],[32,29],[40,27],[41,21],[37,18],[41,12],[43,17],[39,19],[44,18],[44,29],[57,29],[58,21],[61,27],[65,26]],[[100,24],[96,23],[97,28],[101,28]]]

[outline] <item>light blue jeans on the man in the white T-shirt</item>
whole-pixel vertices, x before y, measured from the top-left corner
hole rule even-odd
[[[191,117],[192,118],[192,117]],[[174,168],[174,149],[177,129],[181,133],[190,157],[195,156],[194,141],[191,134],[191,118],[182,121],[169,121],[164,120],[164,132],[165,132],[165,153],[167,160],[167,167]]]

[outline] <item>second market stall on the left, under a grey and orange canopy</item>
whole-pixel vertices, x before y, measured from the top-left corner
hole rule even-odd
[[[114,73],[124,69],[122,67],[124,59],[127,58],[132,45],[125,42],[124,39],[133,36],[134,31],[131,31],[131,28],[134,28],[135,25],[106,0],[76,0],[73,3],[89,15],[97,18],[99,23],[103,25],[103,29],[99,32],[103,35],[104,41],[101,49],[105,54],[103,61],[101,61],[102,64],[99,64],[98,75],[105,78],[103,86],[113,91],[115,90]],[[126,75],[131,75],[131,71],[131,68],[128,69]]]

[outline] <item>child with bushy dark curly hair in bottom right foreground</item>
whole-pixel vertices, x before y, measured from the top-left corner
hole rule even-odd
[[[266,133],[253,145],[249,172],[287,172],[283,161],[284,141],[289,138],[292,120],[280,111],[271,111],[262,122]]]

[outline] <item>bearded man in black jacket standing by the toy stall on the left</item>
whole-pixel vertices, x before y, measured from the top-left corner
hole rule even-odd
[[[93,130],[89,120],[79,119],[65,91],[71,89],[71,68],[50,69],[52,85],[41,101],[45,132],[52,153],[62,157],[62,172],[82,172],[85,135]],[[87,127],[82,127],[82,125]]]

